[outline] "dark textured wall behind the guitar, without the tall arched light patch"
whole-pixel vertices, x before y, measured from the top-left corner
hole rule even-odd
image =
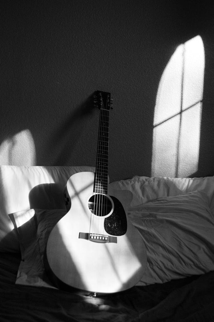
[[[214,175],[210,3],[1,1],[1,163],[95,166],[99,110],[88,98],[104,90],[114,97],[110,181],[150,176],[162,73],[177,46],[200,35],[205,74],[199,164],[185,175]],[[167,166],[163,174],[169,175]]]

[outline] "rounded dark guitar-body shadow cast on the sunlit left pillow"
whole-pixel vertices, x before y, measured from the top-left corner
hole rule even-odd
[[[30,208],[66,209],[63,191],[56,183],[36,185],[29,193]]]

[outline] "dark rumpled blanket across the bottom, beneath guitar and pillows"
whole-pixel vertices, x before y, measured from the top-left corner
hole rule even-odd
[[[214,321],[214,272],[92,298],[14,285],[20,256],[0,256],[2,322]]]

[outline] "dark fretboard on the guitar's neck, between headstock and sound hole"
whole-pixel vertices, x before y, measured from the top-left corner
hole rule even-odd
[[[108,124],[109,110],[101,108],[94,180],[94,193],[100,194],[107,194],[108,188]]]

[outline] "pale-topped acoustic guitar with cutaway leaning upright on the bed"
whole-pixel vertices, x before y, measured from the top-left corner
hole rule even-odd
[[[65,188],[68,213],[52,229],[45,266],[59,288],[114,293],[143,276],[146,251],[126,215],[132,193],[114,190],[108,178],[110,93],[98,91],[100,107],[96,171],[72,175]]]

